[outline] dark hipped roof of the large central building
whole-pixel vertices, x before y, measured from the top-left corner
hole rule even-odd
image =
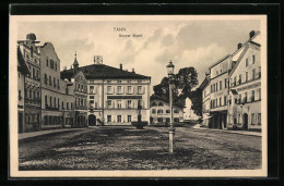
[[[133,78],[133,79],[149,79],[150,76],[135,74],[125,70],[119,70],[105,64],[92,64],[87,66],[79,67],[82,71],[86,79],[107,79],[107,78]],[[73,76],[73,69],[61,71],[61,78],[71,78]]]

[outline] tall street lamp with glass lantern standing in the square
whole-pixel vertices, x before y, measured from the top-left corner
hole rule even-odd
[[[169,153],[174,153],[174,136],[175,136],[175,127],[174,127],[174,115],[173,115],[173,85],[174,85],[174,70],[175,65],[171,60],[167,65],[167,74],[168,74],[168,86],[169,86],[169,109],[170,109],[170,121],[168,128],[168,139],[169,139]]]

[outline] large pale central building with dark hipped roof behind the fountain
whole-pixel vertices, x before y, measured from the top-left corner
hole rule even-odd
[[[76,61],[70,70],[61,71],[61,79],[71,79],[75,71],[81,71],[87,80],[88,125],[130,125],[138,120],[139,104],[142,121],[149,122],[150,76],[134,70],[128,72],[122,64],[117,69],[94,61],[79,66]]]

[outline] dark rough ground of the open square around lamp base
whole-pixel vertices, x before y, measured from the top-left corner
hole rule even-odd
[[[19,142],[20,170],[256,170],[261,137],[177,127],[168,153],[165,127],[102,126]]]

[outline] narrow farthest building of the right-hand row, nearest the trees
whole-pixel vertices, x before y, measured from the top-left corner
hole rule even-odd
[[[208,127],[210,123],[210,106],[211,106],[210,74],[206,74],[206,77],[201,83],[199,88],[202,90],[202,125]]]

